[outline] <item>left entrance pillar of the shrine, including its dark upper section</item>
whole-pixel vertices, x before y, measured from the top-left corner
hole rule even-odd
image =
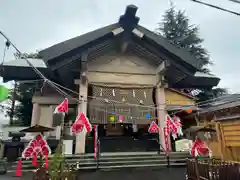
[[[87,115],[87,99],[88,99],[88,80],[87,80],[87,68],[86,68],[86,58],[84,55],[81,62],[81,72],[80,72],[80,82],[79,82],[79,100],[81,101],[78,105],[78,112],[83,112]],[[76,136],[76,147],[75,153],[82,154],[85,153],[85,141],[86,141],[86,129],[83,128],[81,133]]]

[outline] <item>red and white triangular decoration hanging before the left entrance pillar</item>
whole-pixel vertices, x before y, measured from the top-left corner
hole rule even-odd
[[[83,131],[83,128],[85,128],[88,133],[92,131],[92,125],[89,122],[88,118],[84,113],[80,112],[78,113],[78,116],[73,123],[71,130],[73,133],[81,133]]]

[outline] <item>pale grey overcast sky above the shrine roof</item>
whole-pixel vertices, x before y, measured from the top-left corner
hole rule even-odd
[[[240,4],[228,0],[202,0],[240,12]],[[118,21],[126,5],[139,7],[140,24],[156,28],[168,0],[0,0],[0,29],[22,52],[35,52],[58,42]],[[240,92],[240,16],[215,10],[190,0],[172,0],[185,10],[190,22],[200,27],[220,87]],[[4,39],[0,37],[0,60]],[[12,59],[12,50],[6,60]]]

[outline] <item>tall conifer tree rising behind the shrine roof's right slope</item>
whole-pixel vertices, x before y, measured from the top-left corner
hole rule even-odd
[[[210,73],[209,66],[212,65],[212,61],[208,51],[202,46],[204,40],[199,36],[199,27],[190,24],[185,11],[176,10],[171,4],[171,7],[165,11],[162,21],[158,23],[156,33],[177,47],[187,49],[197,59],[202,60],[201,71]],[[197,97],[198,101],[205,101],[227,93],[227,89],[224,88],[202,89]]]

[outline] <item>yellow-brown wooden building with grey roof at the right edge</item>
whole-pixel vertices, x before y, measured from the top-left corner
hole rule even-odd
[[[213,156],[240,161],[240,94],[216,99],[202,108],[196,117],[198,125],[216,130],[207,140]]]

